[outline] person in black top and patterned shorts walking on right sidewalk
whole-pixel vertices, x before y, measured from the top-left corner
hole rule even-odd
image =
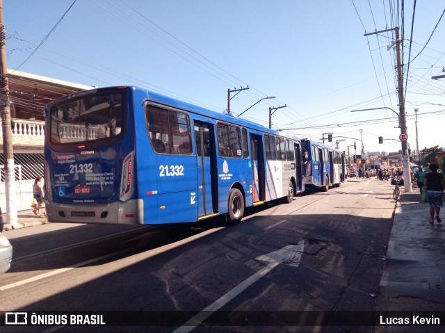
[[[439,164],[431,163],[431,172],[425,175],[423,185],[428,190],[428,200],[430,202],[430,223],[434,223],[434,212],[436,212],[436,221],[441,222],[439,218],[440,207],[444,206],[442,195],[444,194],[444,175],[437,172]]]

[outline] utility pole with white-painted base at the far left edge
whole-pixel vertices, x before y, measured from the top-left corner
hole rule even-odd
[[[11,132],[11,110],[9,100],[8,68],[6,67],[6,30],[3,22],[3,0],[0,0],[0,113],[3,129],[3,161],[6,189],[6,223],[17,225],[17,206],[15,205],[15,171],[13,134]]]

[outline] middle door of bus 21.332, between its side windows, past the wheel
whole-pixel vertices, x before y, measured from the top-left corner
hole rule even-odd
[[[252,149],[252,190],[253,202],[255,203],[266,198],[264,149],[261,136],[250,134],[250,148]]]

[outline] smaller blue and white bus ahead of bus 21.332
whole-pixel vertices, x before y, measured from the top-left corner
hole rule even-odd
[[[307,188],[327,191],[329,186],[340,186],[344,181],[346,163],[344,153],[323,143],[303,139],[303,177]]]

